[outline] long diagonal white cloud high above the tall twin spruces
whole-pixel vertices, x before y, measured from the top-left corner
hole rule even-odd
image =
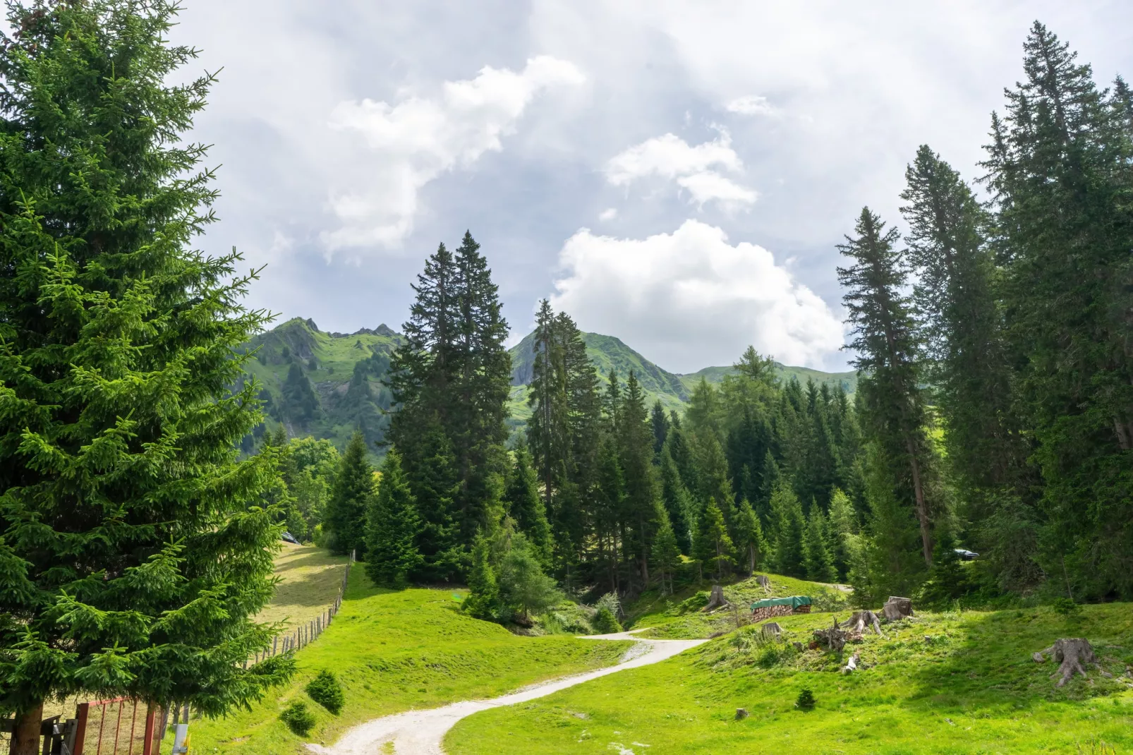
[[[330,126],[361,137],[370,169],[356,175],[353,186],[332,192],[330,205],[340,227],[322,234],[327,251],[399,245],[412,230],[426,184],[502,150],[502,137],[514,133],[543,91],[585,80],[573,63],[539,56],[519,73],[485,66],[476,78],[445,82],[435,99],[340,102]]]

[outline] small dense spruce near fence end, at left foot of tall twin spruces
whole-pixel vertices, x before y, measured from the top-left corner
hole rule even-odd
[[[374,584],[404,587],[424,560],[417,550],[420,520],[415,503],[401,455],[390,449],[377,494],[369,497],[366,510],[366,575]]]

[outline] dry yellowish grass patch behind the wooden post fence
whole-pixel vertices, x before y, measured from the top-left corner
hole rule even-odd
[[[283,543],[275,557],[275,597],[257,616],[258,621],[282,621],[293,627],[325,611],[339,594],[344,555],[331,555],[314,545]]]

